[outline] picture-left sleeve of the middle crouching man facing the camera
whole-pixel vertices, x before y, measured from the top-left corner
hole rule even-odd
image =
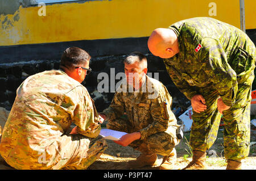
[[[106,115],[106,119],[114,120],[125,112],[125,103],[123,102],[122,92],[115,92],[112,102],[108,108],[102,113]]]

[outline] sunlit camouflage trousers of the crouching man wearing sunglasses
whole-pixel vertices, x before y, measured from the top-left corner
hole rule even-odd
[[[107,147],[106,140],[102,136],[96,138],[81,134],[61,136],[46,149],[50,155],[47,169],[85,170],[100,158]]]

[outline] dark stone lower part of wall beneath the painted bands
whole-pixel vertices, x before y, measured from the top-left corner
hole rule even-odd
[[[93,72],[86,76],[86,79],[82,84],[88,89],[99,112],[109,106],[114,96],[114,92],[99,93],[97,91],[98,82],[102,81],[101,79],[97,79],[98,74],[105,72],[110,77],[111,68],[114,68],[115,75],[119,72],[123,72],[124,66],[122,62],[126,56],[127,55],[104,56],[91,59],[90,67]],[[147,59],[148,73],[152,73],[153,78],[154,73],[159,74],[159,81],[161,81],[170,91],[170,94],[174,99],[174,106],[183,105],[184,107],[188,107],[190,104],[189,101],[179,90],[177,90],[174,83],[172,83],[171,78],[166,72],[163,61],[151,54],[147,54]],[[43,60],[0,64],[0,107],[10,110],[15,100],[16,89],[24,79],[44,70],[58,69],[59,62],[60,60]],[[118,81],[120,80],[115,79],[115,83]]]

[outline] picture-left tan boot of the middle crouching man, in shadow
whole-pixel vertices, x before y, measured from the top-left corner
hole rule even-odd
[[[144,167],[144,166],[154,166],[156,165],[156,160],[158,159],[158,155],[154,154],[145,154],[142,153],[135,161],[128,162],[129,167],[133,167],[135,169]]]

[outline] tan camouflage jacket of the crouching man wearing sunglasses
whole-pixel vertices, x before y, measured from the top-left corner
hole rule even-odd
[[[0,153],[4,158],[38,155],[71,123],[84,136],[100,133],[98,113],[86,88],[61,70],[31,75],[16,90]]]

